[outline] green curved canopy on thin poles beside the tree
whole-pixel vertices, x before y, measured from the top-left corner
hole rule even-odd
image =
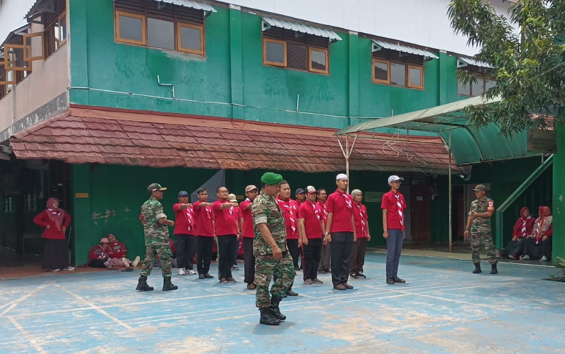
[[[500,134],[499,127],[494,123],[480,129],[470,125],[464,111],[465,107],[500,101],[501,98],[499,97],[488,100],[483,97],[472,97],[442,106],[426,108],[425,110],[351,125],[338,131],[336,136],[375,131],[379,128],[437,133],[446,142],[447,147],[453,151],[453,156],[458,165],[507,160],[530,155],[527,151],[525,132],[517,133],[511,137],[503,137]]]

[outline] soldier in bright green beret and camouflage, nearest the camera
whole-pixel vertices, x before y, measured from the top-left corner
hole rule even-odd
[[[292,256],[286,248],[286,226],[276,196],[282,181],[280,174],[266,172],[261,176],[261,193],[251,204],[251,215],[255,225],[253,255],[255,256],[255,305],[261,312],[263,325],[278,325],[286,319],[280,312],[279,303],[286,297],[296,273]],[[271,277],[276,280],[271,287]]]

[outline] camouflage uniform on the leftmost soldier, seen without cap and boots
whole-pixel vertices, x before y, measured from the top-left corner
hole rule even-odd
[[[171,277],[171,246],[169,246],[168,225],[159,224],[160,218],[166,218],[163,206],[158,200],[150,198],[141,206],[144,224],[146,254],[141,269],[141,276],[147,277],[153,270],[155,252],[161,260],[163,278]]]

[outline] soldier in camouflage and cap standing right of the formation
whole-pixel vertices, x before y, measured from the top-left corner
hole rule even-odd
[[[492,231],[490,229],[490,217],[494,213],[494,202],[490,198],[486,198],[486,187],[477,185],[475,189],[476,200],[471,202],[471,209],[467,217],[467,226],[464,236],[469,237],[471,231],[471,258],[475,264],[474,274],[481,273],[481,248],[484,248],[486,255],[489,257],[490,274],[497,274],[496,252],[493,245]]]

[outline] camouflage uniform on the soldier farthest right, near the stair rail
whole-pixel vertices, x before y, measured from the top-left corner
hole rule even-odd
[[[494,210],[494,202],[490,198],[475,199],[471,202],[469,215],[474,212],[485,213],[488,209]],[[471,258],[473,263],[481,263],[481,247],[489,257],[490,264],[497,264],[496,250],[493,244],[492,231],[490,230],[490,217],[477,217],[471,221]]]

